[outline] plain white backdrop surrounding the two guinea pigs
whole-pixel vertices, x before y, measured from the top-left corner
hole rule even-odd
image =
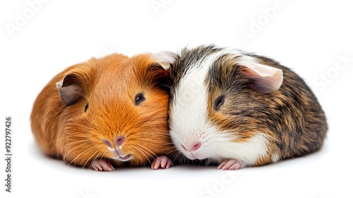
[[[349,1],[1,1],[0,197],[352,197]],[[330,130],[323,149],[261,168],[97,173],[42,156],[32,103],[59,71],[90,57],[216,44],[273,57],[311,86]],[[5,117],[12,122],[5,191]],[[346,182],[347,181],[347,182]],[[349,184],[349,182],[351,182]]]

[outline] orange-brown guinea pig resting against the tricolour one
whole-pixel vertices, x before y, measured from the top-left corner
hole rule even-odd
[[[44,153],[69,165],[169,168],[169,83],[169,71],[150,54],[70,66],[37,96],[32,133]]]

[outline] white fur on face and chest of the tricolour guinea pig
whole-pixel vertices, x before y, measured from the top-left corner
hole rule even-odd
[[[222,50],[211,54],[203,62],[191,66],[181,78],[173,98],[170,135],[174,145],[188,158],[210,158],[219,163],[234,158],[242,161],[244,165],[253,165],[259,157],[267,153],[265,136],[258,132],[248,141],[236,143],[236,136],[220,131],[208,120],[208,88],[204,83],[205,76],[213,62],[229,52],[234,56],[241,55],[235,50]],[[256,59],[247,56],[239,57],[239,60],[256,62]],[[181,146],[191,148],[196,141],[201,142],[197,151],[185,151]]]

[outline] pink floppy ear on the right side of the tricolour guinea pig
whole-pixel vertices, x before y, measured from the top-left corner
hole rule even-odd
[[[280,69],[256,62],[238,62],[237,64],[246,67],[248,72],[245,75],[253,80],[249,85],[250,88],[263,93],[271,93],[277,91],[282,85],[283,73]]]

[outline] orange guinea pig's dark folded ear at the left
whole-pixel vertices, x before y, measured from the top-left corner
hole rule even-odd
[[[67,74],[62,81],[56,83],[56,87],[65,105],[73,105],[83,97],[82,87],[76,74]]]

